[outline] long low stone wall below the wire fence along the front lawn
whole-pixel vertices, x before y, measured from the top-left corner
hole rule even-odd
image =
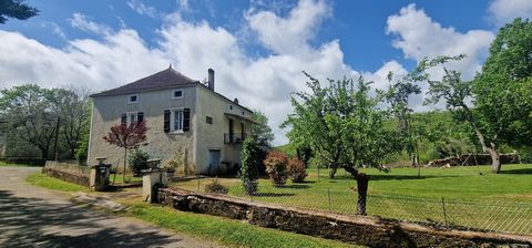
[[[161,189],[160,199],[178,210],[244,219],[262,227],[370,247],[532,247],[532,237],[434,229],[375,217],[339,216],[183,189]]]

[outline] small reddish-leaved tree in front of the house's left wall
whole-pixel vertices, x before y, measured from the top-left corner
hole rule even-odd
[[[139,147],[141,143],[145,142],[147,130],[145,121],[130,123],[129,125],[122,123],[111,126],[108,135],[103,137],[109,144],[124,148],[124,177],[127,164],[127,149]]]

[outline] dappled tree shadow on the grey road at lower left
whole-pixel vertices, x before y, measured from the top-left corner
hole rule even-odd
[[[0,190],[0,247],[161,247],[181,241],[153,229],[108,225],[113,217],[66,203]]]

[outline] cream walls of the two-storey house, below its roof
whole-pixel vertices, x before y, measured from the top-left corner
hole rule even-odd
[[[149,76],[150,78],[150,76]],[[181,90],[181,97],[173,92]],[[121,123],[123,114],[143,113],[147,127],[145,149],[151,157],[161,158],[162,164],[178,158],[185,166],[178,172],[187,174],[224,174],[241,163],[238,144],[226,144],[224,134],[233,132],[250,133],[253,123],[249,110],[243,107],[213,89],[200,82],[168,89],[143,90],[137,101],[129,103],[129,94],[99,95],[93,97],[91,134],[88,164],[98,164],[96,157],[106,157],[105,163],[122,164],[124,149],[103,141],[111,126]],[[165,110],[188,108],[190,130],[186,132],[164,132]],[[207,123],[209,118],[209,123]],[[242,130],[244,127],[244,130]],[[211,154],[219,153],[219,164],[212,167]]]

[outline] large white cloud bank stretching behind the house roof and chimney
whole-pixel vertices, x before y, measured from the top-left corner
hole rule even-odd
[[[320,21],[330,7],[323,1],[301,0],[287,17],[268,11],[249,11],[246,21],[252,31],[259,33],[264,45],[273,54],[250,58],[239,44],[238,35],[208,22],[187,22],[178,12],[164,18],[155,38],[158,45],[147,46],[133,29],[122,27],[114,31],[98,24],[81,13],[74,13],[71,24],[99,34],[99,39],[69,40],[61,49],[51,48],[17,32],[0,31],[0,87],[21,83],[42,86],[83,85],[102,91],[123,85],[142,76],[164,70],[170,62],[193,79],[206,78],[206,70],[216,70],[216,91],[229,99],[259,108],[267,114],[276,134],[276,144],[286,138],[278,125],[290,112],[289,94],[304,90],[307,71],[314,76],[338,79],[357,76],[344,62],[338,40],[309,45]],[[260,27],[253,19],[268,17],[272,22]],[[275,20],[275,21],[274,21]],[[291,27],[294,25],[294,27]],[[288,29],[288,41],[275,38],[276,29]],[[272,33],[274,38],[268,38]],[[301,46],[298,53],[291,48]],[[10,54],[17,53],[17,56]],[[370,80],[380,82],[388,70],[403,71],[396,61],[383,64],[376,73],[365,72]]]

